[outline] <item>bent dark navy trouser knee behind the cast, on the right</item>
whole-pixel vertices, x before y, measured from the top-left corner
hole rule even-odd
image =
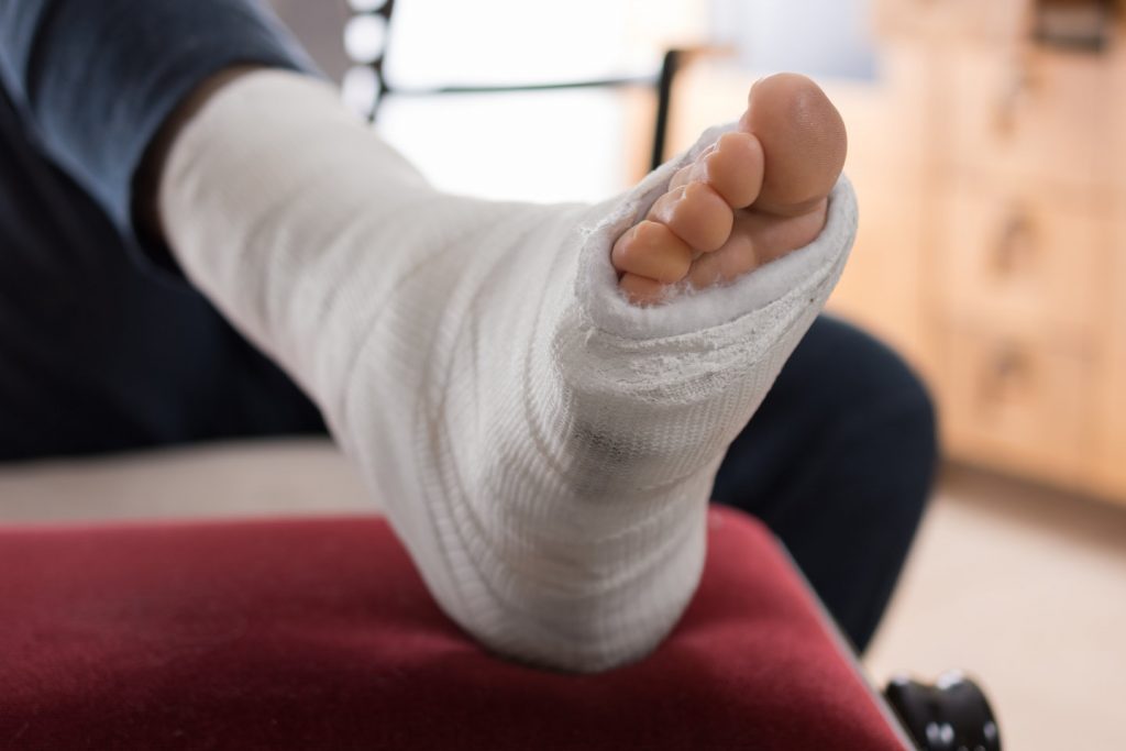
[[[919,378],[868,334],[821,316],[731,445],[712,498],[779,536],[863,652],[936,462],[935,412]]]

